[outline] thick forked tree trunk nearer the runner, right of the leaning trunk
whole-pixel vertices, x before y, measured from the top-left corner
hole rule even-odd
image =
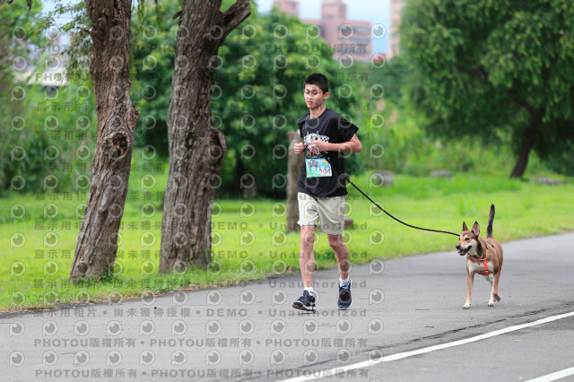
[[[168,109],[170,170],[163,195],[160,273],[177,273],[211,260],[211,215],[227,153],[213,126],[211,95],[217,52],[251,7],[238,0],[225,13],[221,0],[183,1]]]

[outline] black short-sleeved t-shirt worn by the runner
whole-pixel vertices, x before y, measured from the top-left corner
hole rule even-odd
[[[325,109],[317,118],[309,118],[309,113],[307,113],[300,117],[297,125],[305,144],[305,160],[325,158],[328,155],[332,165],[332,176],[307,178],[307,168],[304,163],[299,174],[297,190],[316,197],[347,195],[344,178],[338,172],[338,170],[344,172],[344,153],[311,152],[309,143],[311,138],[321,139],[328,143],[349,142],[359,128],[331,109]]]

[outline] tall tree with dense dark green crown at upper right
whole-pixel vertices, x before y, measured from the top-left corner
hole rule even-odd
[[[510,135],[524,175],[574,143],[574,8],[570,0],[412,0],[401,21],[410,99],[431,133]]]

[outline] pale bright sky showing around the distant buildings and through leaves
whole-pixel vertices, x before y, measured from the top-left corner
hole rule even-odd
[[[266,13],[271,10],[273,0],[255,0],[259,12]],[[72,0],[62,0],[64,4],[74,3]],[[390,30],[390,0],[344,0],[347,4],[347,17],[350,20],[364,20],[371,24],[383,24],[387,34],[382,39],[372,39],[373,53],[387,51],[387,38]],[[42,1],[44,12],[54,10],[54,0]],[[321,18],[321,0],[300,0],[300,17],[304,19]],[[62,20],[61,23],[64,23]],[[60,23],[60,22],[58,22]]]

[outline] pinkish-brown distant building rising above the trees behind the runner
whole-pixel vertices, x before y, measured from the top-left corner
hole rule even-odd
[[[274,0],[279,12],[299,17],[298,0]],[[322,0],[321,19],[300,19],[301,22],[316,25],[321,37],[335,50],[335,59],[345,54],[360,61],[370,61],[373,49],[370,43],[371,24],[366,21],[348,20],[347,5],[343,0]]]

